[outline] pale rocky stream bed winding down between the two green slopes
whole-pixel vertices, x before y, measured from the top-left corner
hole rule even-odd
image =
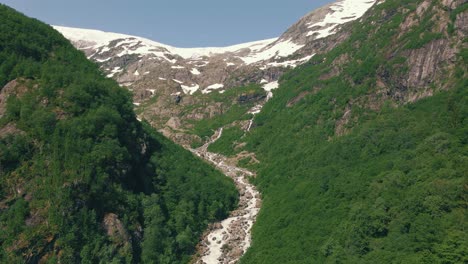
[[[227,158],[220,154],[208,152],[208,146],[218,140],[222,132],[223,129],[219,129],[208,143],[191,151],[234,180],[240,194],[239,205],[227,219],[210,225],[198,245],[200,257],[193,261],[197,264],[237,263],[250,246],[251,229],[262,203],[260,193],[248,181],[254,173],[228,164]]]

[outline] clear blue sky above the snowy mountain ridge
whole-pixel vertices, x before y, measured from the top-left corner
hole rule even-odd
[[[333,0],[0,0],[53,25],[146,37],[177,47],[277,37]]]

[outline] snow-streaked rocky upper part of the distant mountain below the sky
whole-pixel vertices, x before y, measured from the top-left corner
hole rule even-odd
[[[294,60],[285,58],[300,53],[307,44],[333,35],[340,25],[360,18],[376,0],[341,0],[319,8],[293,25],[279,38],[260,40],[228,47],[177,48],[149,39],[103,32],[55,26],[73,44],[83,50],[89,59],[102,65],[108,77],[121,84],[132,86],[143,78],[179,80],[181,92],[193,94],[198,90],[205,93],[209,86],[223,84],[230,88],[226,74],[219,74],[253,65],[265,70],[271,67],[295,67],[310,59],[314,53],[305,53]],[[297,56],[296,56],[297,57]],[[215,64],[210,70],[208,64]],[[158,69],[163,67],[164,70]],[[190,74],[181,74],[180,72]],[[186,75],[186,76],[181,76]],[[216,76],[213,76],[216,75]],[[213,79],[210,82],[200,79]],[[215,77],[215,78],[213,78]],[[268,83],[274,78],[260,78]],[[190,87],[183,89],[183,86]],[[195,88],[197,87],[197,88]],[[222,91],[222,89],[218,89]]]

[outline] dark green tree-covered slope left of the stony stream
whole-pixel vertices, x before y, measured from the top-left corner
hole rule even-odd
[[[0,5],[0,262],[183,263],[231,180],[139,123],[58,32]]]

